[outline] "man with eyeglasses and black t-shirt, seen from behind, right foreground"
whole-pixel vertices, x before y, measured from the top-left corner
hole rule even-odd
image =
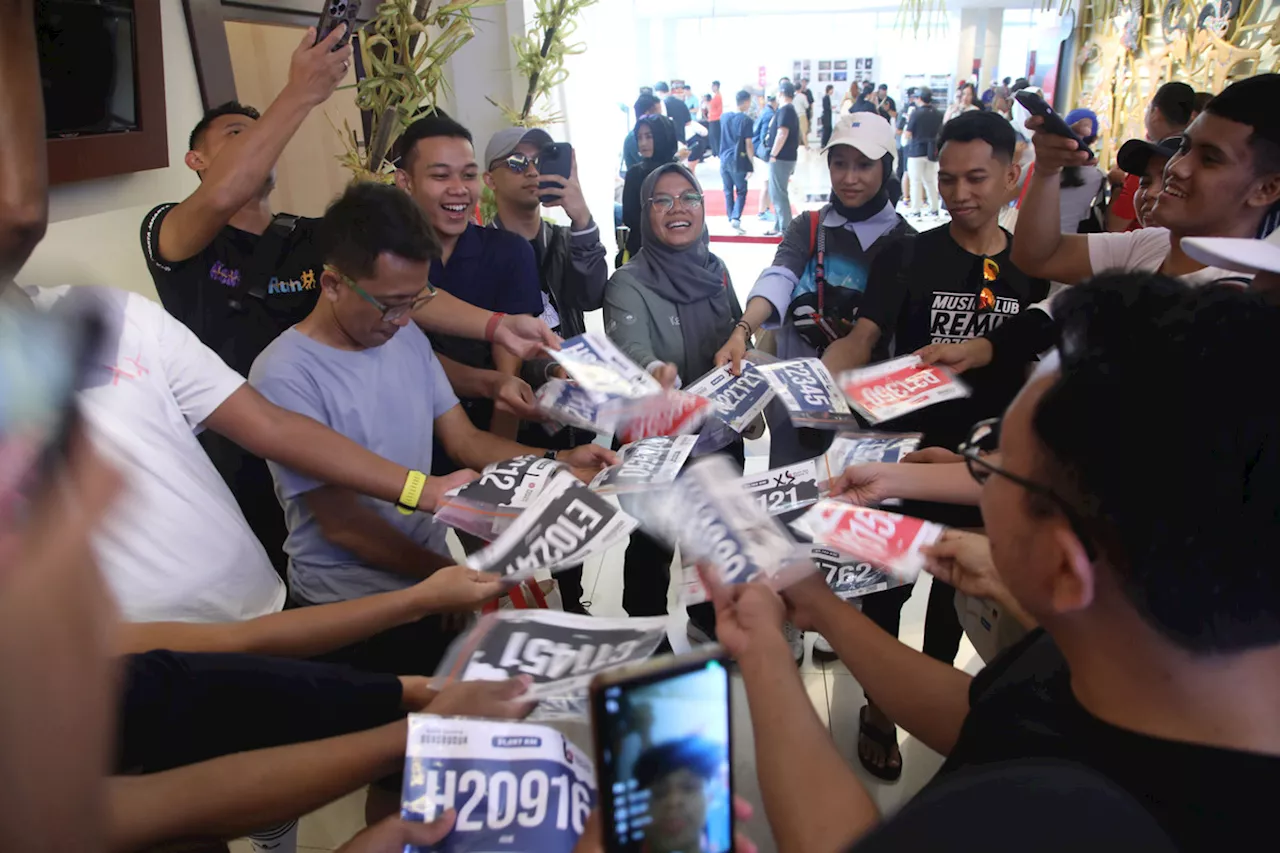
[[[1216,850],[1272,830],[1280,402],[1240,365],[1266,362],[1280,311],[1153,273],[1094,278],[1056,307],[1060,361],[965,448],[995,569],[1043,630],[970,676],[818,574],[783,594],[946,757],[896,816],[882,821],[787,666],[783,602],[708,578],[780,848]],[[1189,419],[1202,388],[1213,418]]]

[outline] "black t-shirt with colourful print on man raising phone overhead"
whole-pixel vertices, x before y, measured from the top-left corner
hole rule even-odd
[[[142,254],[165,310],[189,328],[241,375],[282,332],[298,323],[320,297],[324,256],[315,245],[319,219],[298,219],[276,257],[265,264],[262,298],[246,295],[241,307],[230,296],[250,274],[261,237],[227,225],[200,254],[184,261],[160,255],[160,224],[174,202],[160,205],[142,220]]]

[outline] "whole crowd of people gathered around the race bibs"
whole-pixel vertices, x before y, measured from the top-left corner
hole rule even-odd
[[[617,460],[584,430],[549,435],[532,398],[563,378],[544,347],[600,309],[666,388],[739,371],[771,330],[782,359],[840,373],[918,353],[972,389],[890,425],[923,435],[908,464],[832,483],[951,528],[928,549],[923,652],[897,639],[910,585],[852,607],[818,573],[780,593],[703,567],[712,601],[691,608],[690,637],[737,661],[780,849],[1267,838],[1280,411],[1256,373],[1280,334],[1280,250],[1260,240],[1280,210],[1280,76],[1188,109],[1169,88],[1181,85],[1160,88],[1148,138],[1117,159],[1138,227],[1111,233],[1064,227],[1092,161],[1041,119],[1016,128],[998,87],[992,109],[961,87],[947,114],[927,88],[899,113],[883,86],[849,106],[828,87],[831,195],[792,216],[806,81],[781,81],[754,120],[750,92],[726,105],[716,85],[703,131],[687,87],[659,83],[636,102],[626,170],[637,242],[611,274],[576,167],[539,172],[553,141],[540,129],[502,129],[481,159],[467,128],[433,113],[397,142],[394,184],[355,183],[319,219],[273,210],[276,160],[349,68],[340,27],[319,44],[308,31],[265,110],[227,104],[192,129],[198,188],[141,223],[156,305],[13,284],[47,220],[45,122],[32,3],[0,10],[0,297],[104,318],[61,459],[20,514],[9,494],[0,505],[6,847],[253,834],[288,850],[301,815],[365,785],[369,829],[343,850],[444,839],[452,813],[397,815],[404,713],[520,719],[532,703],[520,679],[429,686],[458,615],[503,590],[453,565],[430,514],[490,462],[545,456],[588,482]],[[1098,133],[1096,117],[1073,126]],[[782,241],[745,305],[710,251],[703,187],[677,161],[685,146],[696,164],[704,138],[737,218],[740,178],[768,155]],[[916,232],[897,213],[904,159],[947,223]],[[474,216],[481,183],[498,209],[488,225]],[[1065,286],[1052,297],[1051,282]],[[832,438],[777,402],[765,419],[771,467]],[[742,447],[723,452],[741,462]],[[666,612],[672,557],[632,537],[628,615]],[[566,610],[585,612],[581,567],[557,580]],[[977,676],[954,666],[956,590],[1027,629]],[[795,666],[801,630],[867,693],[869,772],[900,776],[896,726],[946,757],[897,815],[879,813],[815,713]],[[598,822],[579,849],[603,849]]]

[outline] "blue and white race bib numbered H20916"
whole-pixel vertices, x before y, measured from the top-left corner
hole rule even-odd
[[[408,717],[401,817],[457,817],[443,840],[406,853],[571,853],[594,807],[595,766],[554,729]]]

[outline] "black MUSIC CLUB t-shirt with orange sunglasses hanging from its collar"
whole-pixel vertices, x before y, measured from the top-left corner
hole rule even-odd
[[[1014,238],[991,257],[972,255],[950,225],[900,237],[876,257],[867,277],[860,318],[881,329],[874,359],[909,355],[931,343],[957,343],[987,334],[1041,301],[1048,282],[1029,278],[1010,259]],[[1004,412],[1027,378],[1027,362],[1001,360],[969,370],[973,396],[938,403],[892,421],[920,430],[927,444],[955,447],[983,418]]]

